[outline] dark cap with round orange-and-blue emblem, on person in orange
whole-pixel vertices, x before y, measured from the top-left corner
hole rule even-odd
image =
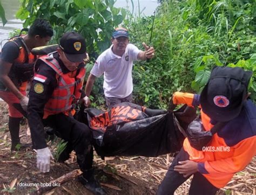
[[[251,76],[252,72],[239,67],[214,67],[200,95],[203,112],[220,122],[237,117],[246,98]]]

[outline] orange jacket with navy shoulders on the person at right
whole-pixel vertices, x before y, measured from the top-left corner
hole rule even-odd
[[[188,100],[188,102],[191,102]],[[199,95],[188,106],[198,106]],[[203,110],[201,119],[206,130],[213,122]],[[213,122],[214,123],[214,122]],[[186,138],[185,151],[192,161],[198,162],[199,172],[215,187],[224,187],[236,172],[243,170],[256,154],[256,107],[251,100],[244,103],[240,115],[213,135],[211,143],[203,151],[191,147]]]

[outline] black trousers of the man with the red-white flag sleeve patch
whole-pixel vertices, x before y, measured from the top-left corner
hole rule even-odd
[[[92,168],[92,131],[86,124],[62,113],[50,115],[43,123],[55,129],[55,134],[68,142],[67,147],[70,151],[76,151],[77,163],[81,171]]]

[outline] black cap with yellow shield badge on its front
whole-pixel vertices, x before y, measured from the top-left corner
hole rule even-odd
[[[82,62],[87,57],[85,39],[77,32],[63,34],[59,47],[72,62]]]

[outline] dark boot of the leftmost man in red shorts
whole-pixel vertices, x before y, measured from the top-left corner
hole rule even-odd
[[[23,148],[28,148],[31,144],[21,144],[19,140],[19,122],[22,118],[9,117],[9,130],[11,134],[11,150],[16,151]]]

